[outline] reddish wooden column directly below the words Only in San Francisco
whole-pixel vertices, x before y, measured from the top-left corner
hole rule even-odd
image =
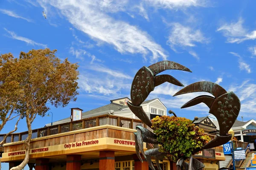
[[[67,155],[66,170],[81,170],[81,155]]]

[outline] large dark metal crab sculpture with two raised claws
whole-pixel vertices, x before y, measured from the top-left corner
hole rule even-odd
[[[141,119],[146,125],[148,125],[148,127],[152,126],[151,120],[148,118],[142,106],[140,105],[145,101],[150,92],[154,91],[154,87],[161,85],[164,82],[169,82],[178,86],[184,86],[181,82],[179,82],[177,79],[170,75],[163,74],[156,76],[160,72],[169,69],[192,72],[189,70],[189,68],[186,68],[185,66],[180,65],[176,62],[161,61],[150,65],[149,67],[143,66],[142,68],[140,68],[132,82],[131,102],[127,102],[128,107],[139,119]],[[207,95],[198,96],[187,102],[181,108],[191,107],[203,102],[209,107],[209,113],[212,113],[217,118],[220,126],[219,134],[217,134],[216,137],[212,139],[212,141],[204,145],[201,149],[195,150],[194,153],[200,150],[217,147],[230,141],[232,135],[228,134],[228,131],[233,126],[240,111],[240,101],[236,94],[234,94],[233,92],[225,91],[224,88],[213,82],[195,82],[181,89],[174,96],[192,92],[208,92],[214,97]],[[175,115],[175,113],[173,114]],[[195,117],[192,123],[196,119],[198,118]],[[157,136],[150,130],[142,126],[136,126],[136,129],[137,132],[134,134],[135,148],[138,158],[140,159],[140,161],[143,162],[143,159],[140,156],[141,152],[143,157],[148,161],[149,167],[152,170],[155,170],[151,161],[151,156],[154,156],[157,168],[158,170],[161,170],[159,160],[163,159],[167,155],[167,153],[162,153],[159,151]],[[144,152],[143,142],[154,144],[154,148],[146,150]],[[184,158],[180,158],[177,161],[176,165],[177,170],[181,170],[182,167],[184,167],[186,170],[199,170],[204,167],[204,164],[201,163],[201,161],[194,159],[192,155],[189,157],[189,163],[186,163],[184,161]]]

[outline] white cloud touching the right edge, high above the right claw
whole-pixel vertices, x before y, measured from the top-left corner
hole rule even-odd
[[[237,23],[225,23],[217,31],[223,32],[223,35],[227,37],[227,42],[229,43],[240,43],[245,40],[255,40],[256,30],[249,32],[245,29],[242,24],[244,20],[239,18]]]

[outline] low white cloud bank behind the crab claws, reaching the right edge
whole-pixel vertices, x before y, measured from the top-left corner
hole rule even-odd
[[[227,91],[233,91],[239,97],[241,102],[241,110],[239,115],[244,115],[247,117],[251,117],[256,114],[256,84],[249,83],[249,82],[250,82],[249,80],[246,80],[244,82],[241,82],[240,85],[235,85],[233,83],[230,83],[229,87],[223,86],[223,88],[225,88]],[[180,108],[182,105],[184,105],[189,100],[195,98],[196,96],[200,96],[200,95],[212,96],[209,93],[196,92],[196,93],[183,94],[183,95],[173,97],[173,95],[177,91],[179,91],[181,88],[182,87],[165,83],[163,85],[157,86],[154,89],[154,91],[151,92],[148,99],[154,99],[158,97],[164,103],[164,105],[166,105],[166,107],[172,109],[172,108]],[[209,113],[209,108],[204,103],[201,103],[189,108],[184,108],[184,109],[188,111]]]

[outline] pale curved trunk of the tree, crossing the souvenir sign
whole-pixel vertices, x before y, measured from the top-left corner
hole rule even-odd
[[[28,126],[28,137],[24,142],[25,151],[25,159],[19,164],[17,167],[12,167],[11,170],[22,170],[23,167],[29,162],[29,152],[30,152],[30,140],[32,137],[32,129],[31,129],[31,122],[29,119],[29,114],[26,115],[26,123]]]

